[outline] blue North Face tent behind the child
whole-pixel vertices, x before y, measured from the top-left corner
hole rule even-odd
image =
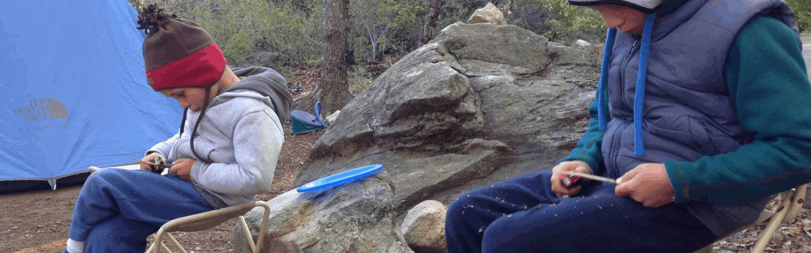
[[[149,88],[136,20],[126,0],[3,2],[0,193],[82,182],[177,133],[182,108]]]

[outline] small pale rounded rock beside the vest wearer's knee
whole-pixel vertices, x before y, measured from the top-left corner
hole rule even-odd
[[[445,245],[445,212],[448,212],[448,208],[436,200],[423,201],[408,211],[400,230],[414,252],[448,251]]]

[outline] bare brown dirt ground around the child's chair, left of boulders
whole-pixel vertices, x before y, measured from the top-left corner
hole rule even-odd
[[[290,191],[290,184],[301,169],[312,144],[322,133],[290,135],[290,126],[285,126],[285,144],[271,189],[257,196],[257,199],[267,201]],[[56,191],[0,195],[0,252],[62,252],[80,190],[81,186],[74,186]],[[234,251],[234,224],[232,220],[214,229],[175,233],[174,236],[189,252],[231,252]],[[148,241],[151,243],[152,239]]]

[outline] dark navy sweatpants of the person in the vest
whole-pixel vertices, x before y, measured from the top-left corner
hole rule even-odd
[[[455,252],[692,252],[715,235],[680,204],[647,208],[589,182],[577,196],[551,191],[551,170],[468,191],[448,206]]]

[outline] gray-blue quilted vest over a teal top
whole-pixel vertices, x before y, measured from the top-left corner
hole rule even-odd
[[[600,85],[611,115],[607,124],[599,118],[606,130],[602,152],[607,176],[619,178],[642,163],[697,161],[752,141],[753,133],[738,122],[723,71],[736,35],[756,15],[779,19],[797,32],[794,15],[782,0],[693,0],[668,15],[649,16],[653,29],[648,49],[642,45],[644,35],[616,33],[610,57],[603,60],[608,71]],[[646,75],[637,76],[644,54]],[[645,84],[642,92],[637,92],[637,82]],[[635,113],[642,131],[634,131]],[[689,184],[684,186],[682,193],[689,195]],[[755,221],[768,200],[684,205],[722,236]]]

